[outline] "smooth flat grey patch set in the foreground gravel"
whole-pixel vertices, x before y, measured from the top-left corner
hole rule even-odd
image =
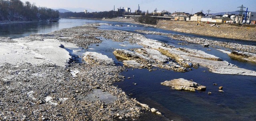
[[[118,99],[117,96],[113,96],[109,92],[102,92],[102,89],[94,89],[92,93],[88,94],[86,97],[76,96],[80,100],[89,100],[89,101],[104,101],[105,103],[114,103]]]

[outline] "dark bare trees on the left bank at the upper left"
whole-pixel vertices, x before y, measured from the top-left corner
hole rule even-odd
[[[0,0],[0,21],[39,21],[59,18],[59,12],[20,0]]]

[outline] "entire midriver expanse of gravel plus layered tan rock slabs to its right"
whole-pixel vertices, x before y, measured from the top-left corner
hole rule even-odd
[[[256,76],[254,71],[203,51],[176,48],[138,33],[100,30],[98,25],[19,39],[1,38],[0,120],[140,120],[150,111],[154,117],[167,120],[157,109],[129,98],[113,85],[124,80],[120,75],[124,66],[116,66],[106,55],[88,52],[82,57],[86,63],[75,62],[80,57],[69,51],[101,43],[97,37],[143,46],[113,52],[126,67],[186,72],[192,67],[205,66],[220,74]]]

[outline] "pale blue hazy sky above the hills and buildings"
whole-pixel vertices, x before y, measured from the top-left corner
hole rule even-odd
[[[203,10],[206,14],[210,13],[232,12],[239,10],[237,8],[243,4],[248,11],[256,12],[256,0],[21,0],[22,2],[35,3],[36,6],[47,7],[52,9],[63,8],[72,12],[110,11],[117,8],[131,8],[132,12],[138,9],[153,12],[156,8],[158,11],[167,10],[171,13],[188,12],[196,13]],[[246,10],[246,8],[244,10]]]

